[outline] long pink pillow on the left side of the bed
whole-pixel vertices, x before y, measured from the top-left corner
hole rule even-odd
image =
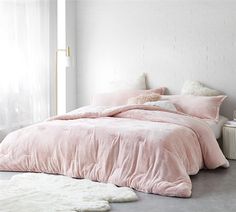
[[[122,90],[111,93],[98,93],[92,98],[92,105],[101,105],[101,106],[126,105],[128,99],[131,97],[150,93],[164,94],[164,92],[165,88],[160,87],[150,90]]]

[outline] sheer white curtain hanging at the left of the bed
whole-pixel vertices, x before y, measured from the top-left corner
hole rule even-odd
[[[0,1],[0,131],[49,116],[49,2]]]

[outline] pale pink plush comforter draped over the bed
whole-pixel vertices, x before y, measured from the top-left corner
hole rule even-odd
[[[229,166],[208,125],[154,106],[82,108],[0,144],[2,171],[57,173],[167,196],[189,197],[189,175],[204,166]]]

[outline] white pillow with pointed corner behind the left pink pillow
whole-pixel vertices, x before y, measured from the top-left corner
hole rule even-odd
[[[119,90],[146,90],[146,75],[141,74],[137,78],[125,77],[113,79],[108,82],[106,86],[106,91],[113,92]]]

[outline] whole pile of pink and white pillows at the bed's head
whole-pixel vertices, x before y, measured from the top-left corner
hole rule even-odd
[[[92,105],[119,106],[145,104],[169,111],[179,111],[207,120],[219,120],[219,110],[226,98],[221,92],[208,88],[198,81],[186,81],[181,95],[164,95],[165,87],[146,89],[146,76],[142,74],[125,89],[96,94]]]

